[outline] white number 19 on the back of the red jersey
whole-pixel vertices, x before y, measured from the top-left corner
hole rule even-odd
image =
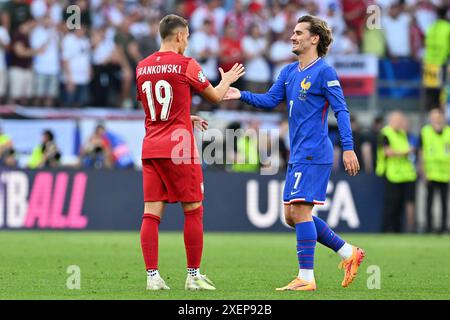
[[[163,90],[164,96],[162,95]],[[155,110],[155,103],[153,101],[151,81],[145,81],[142,84],[142,91],[144,91],[144,93],[147,96],[147,104],[150,111],[150,118],[152,121],[156,121],[156,110]],[[158,101],[158,103],[162,106],[161,120],[167,121],[167,119],[169,119],[170,107],[172,105],[173,100],[173,90],[170,83],[168,83],[166,80],[159,80],[155,84],[155,96],[156,101]]]

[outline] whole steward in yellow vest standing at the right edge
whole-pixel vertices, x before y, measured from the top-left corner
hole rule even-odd
[[[430,124],[424,126],[420,135],[420,168],[426,180],[426,232],[432,232],[433,198],[439,191],[441,200],[440,233],[448,231],[448,186],[450,181],[450,126],[445,123],[444,113],[433,109],[429,114]]]

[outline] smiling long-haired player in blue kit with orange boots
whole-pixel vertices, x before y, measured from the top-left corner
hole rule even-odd
[[[284,187],[286,222],[297,235],[298,276],[285,290],[316,290],[314,252],[316,242],[329,247],[342,258],[345,271],[342,286],[356,277],[364,259],[361,248],[350,245],[334,233],[325,221],[312,215],[314,205],[325,202],[333,164],[333,146],[328,138],[328,108],[333,109],[343,148],[343,163],[350,176],[360,167],[353,151],[350,114],[336,71],[323,57],[333,40],[327,23],[314,16],[298,19],[291,41],[298,61],[285,66],[275,83],[264,94],[239,91],[231,87],[224,100],[241,101],[262,109],[273,109],[285,101],[289,118],[291,155]]]

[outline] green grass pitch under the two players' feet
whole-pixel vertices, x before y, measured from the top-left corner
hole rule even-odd
[[[366,250],[348,288],[339,257],[318,244],[315,292],[275,292],[297,274],[294,233],[206,233],[202,273],[214,292],[186,292],[182,233],[160,233],[159,268],[171,287],[148,292],[137,232],[0,232],[0,299],[450,299],[450,237],[346,234]],[[67,268],[81,270],[69,290]],[[381,288],[367,288],[381,271]],[[369,269],[370,270],[370,269]]]

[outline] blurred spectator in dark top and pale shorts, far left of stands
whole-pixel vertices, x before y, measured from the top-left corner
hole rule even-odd
[[[35,21],[29,20],[19,26],[11,41],[9,69],[9,97],[12,103],[28,105],[33,94],[33,57],[47,50],[47,43],[40,48],[30,46],[30,34]]]

